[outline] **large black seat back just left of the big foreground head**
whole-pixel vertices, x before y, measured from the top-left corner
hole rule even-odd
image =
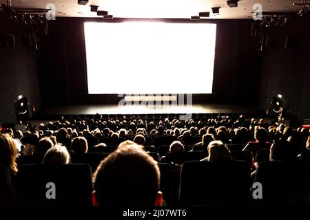
[[[27,206],[91,206],[92,174],[87,164],[27,164],[17,174],[18,191]],[[55,198],[51,196],[55,195]]]

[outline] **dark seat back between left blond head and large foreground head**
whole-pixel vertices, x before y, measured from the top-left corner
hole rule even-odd
[[[109,153],[72,153],[71,163],[72,164],[88,164],[92,168],[92,173],[96,171],[101,160],[105,159]]]

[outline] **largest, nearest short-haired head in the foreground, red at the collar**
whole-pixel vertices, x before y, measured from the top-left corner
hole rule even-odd
[[[159,168],[142,146],[126,141],[94,173],[94,206],[161,206]]]

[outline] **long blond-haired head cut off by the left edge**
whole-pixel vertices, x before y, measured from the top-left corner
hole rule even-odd
[[[0,164],[10,168],[12,173],[17,173],[17,147],[9,135],[0,135]]]

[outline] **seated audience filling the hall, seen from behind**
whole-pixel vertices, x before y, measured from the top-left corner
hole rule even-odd
[[[94,164],[83,161],[83,155],[90,154],[101,159]],[[264,161],[307,159],[309,129],[246,120],[243,115],[198,121],[62,118],[24,133],[6,129],[0,134],[0,164],[10,173],[10,181],[1,182],[0,192],[7,185],[11,189],[0,193],[0,205],[22,203],[18,173],[25,164],[90,164],[93,206],[169,206],[178,204],[184,162],[248,160],[252,184]],[[171,167],[170,196],[161,192],[165,188],[161,164]]]

